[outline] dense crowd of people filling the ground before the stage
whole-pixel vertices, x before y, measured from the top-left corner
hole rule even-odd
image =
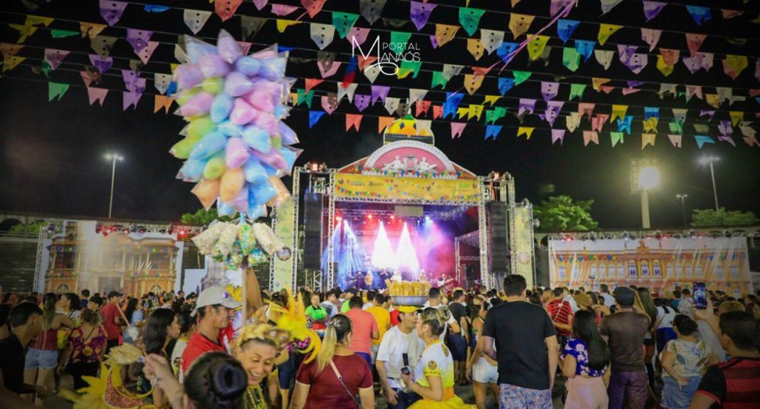
[[[421,306],[355,288],[298,295],[3,293],[0,407],[41,406],[62,376],[86,395],[109,370],[141,407],[364,409],[380,394],[391,409],[484,409],[490,394],[549,408],[560,379],[567,408],[760,405],[755,294],[711,291],[699,309],[688,288],[529,289],[513,274],[501,291],[432,288]],[[141,357],[119,366],[109,353],[125,345]]]

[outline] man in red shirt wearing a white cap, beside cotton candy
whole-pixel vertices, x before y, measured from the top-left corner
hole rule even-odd
[[[187,373],[193,361],[205,352],[226,352],[226,348],[219,341],[219,332],[227,328],[230,315],[240,306],[242,304],[233,300],[230,293],[222,287],[208,287],[201,291],[192,312],[193,316],[198,314],[198,329],[192,334],[185,351],[182,352],[182,373]]]

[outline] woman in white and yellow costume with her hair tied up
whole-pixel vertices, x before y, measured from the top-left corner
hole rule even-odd
[[[430,307],[420,313],[417,334],[426,347],[414,373],[402,373],[401,379],[412,392],[423,398],[409,409],[475,409],[474,404],[465,404],[454,395],[454,360],[440,338],[449,318],[445,315],[450,314],[448,310]]]

